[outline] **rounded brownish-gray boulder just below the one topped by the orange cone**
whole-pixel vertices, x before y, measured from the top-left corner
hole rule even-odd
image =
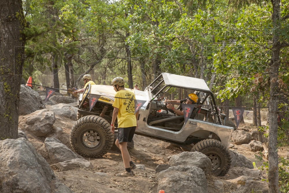
[[[37,137],[44,137],[52,131],[55,115],[47,109],[35,111],[19,120],[19,127],[33,133]]]

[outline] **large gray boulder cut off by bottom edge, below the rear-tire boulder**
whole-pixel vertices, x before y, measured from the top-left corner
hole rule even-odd
[[[195,166],[174,166],[161,171],[156,177],[157,190],[166,193],[208,193],[208,182],[201,168]]]

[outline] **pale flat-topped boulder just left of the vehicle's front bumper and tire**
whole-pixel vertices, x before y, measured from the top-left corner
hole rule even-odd
[[[53,111],[55,115],[66,117],[68,119],[77,120],[77,108],[70,106],[69,104],[56,104],[49,107],[50,111]]]

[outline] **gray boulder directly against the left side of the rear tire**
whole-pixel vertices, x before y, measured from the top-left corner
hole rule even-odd
[[[201,168],[205,175],[211,174],[212,162],[211,160],[202,154],[201,152],[181,152],[179,154],[173,155],[168,162],[170,166],[195,166]]]

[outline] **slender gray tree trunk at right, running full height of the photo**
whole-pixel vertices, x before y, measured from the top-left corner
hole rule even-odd
[[[271,0],[273,5],[273,42],[272,55],[270,61],[270,92],[269,92],[269,137],[268,137],[268,185],[269,193],[278,192],[278,152],[277,152],[277,130],[278,130],[278,94],[279,94],[279,67],[280,67],[280,47],[279,27],[280,27],[280,0]]]

